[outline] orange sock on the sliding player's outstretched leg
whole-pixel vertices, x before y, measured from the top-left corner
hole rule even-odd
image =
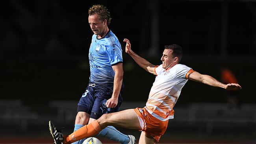
[[[95,120],[94,122],[81,127],[77,131],[74,131],[74,133],[71,133],[69,136],[64,137],[63,144],[70,144],[83,138],[91,137],[98,134],[101,130],[98,121]]]

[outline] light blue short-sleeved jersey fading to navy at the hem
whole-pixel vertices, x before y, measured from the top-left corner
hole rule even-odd
[[[115,72],[112,68],[122,63],[122,48],[112,31],[98,39],[93,35],[89,49],[90,82],[102,86],[113,87]]]

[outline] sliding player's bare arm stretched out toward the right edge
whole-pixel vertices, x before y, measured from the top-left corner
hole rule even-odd
[[[193,81],[197,81],[200,83],[204,83],[206,85],[210,85],[213,87],[221,87],[223,89],[226,90],[232,90],[232,89],[242,89],[242,87],[237,84],[237,83],[229,83],[227,85],[217,81],[215,78],[208,76],[208,75],[204,75],[204,74],[200,74],[199,72],[193,72],[191,74],[189,74],[188,79],[191,79]]]

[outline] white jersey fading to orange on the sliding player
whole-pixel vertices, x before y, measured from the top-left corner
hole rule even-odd
[[[150,90],[145,108],[155,118],[166,121],[173,118],[173,107],[177,102],[188,75],[194,72],[186,65],[176,64],[165,70],[162,65],[155,67],[156,79]]]

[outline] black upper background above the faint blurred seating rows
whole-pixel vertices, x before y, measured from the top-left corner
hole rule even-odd
[[[80,99],[89,81],[93,32],[88,9],[93,4],[108,7],[109,29],[122,45],[124,102],[146,102],[154,82],[154,76],[125,53],[122,40],[128,38],[134,52],[154,65],[161,64],[165,45],[179,44],[184,51],[181,63],[197,72],[221,81],[222,68],[230,69],[243,88],[236,92],[238,104],[255,105],[254,0],[1,1],[2,103],[20,100],[32,112],[47,115],[52,100]],[[227,103],[227,95],[224,89],[188,81],[176,106]],[[255,135],[256,123],[250,126]]]

